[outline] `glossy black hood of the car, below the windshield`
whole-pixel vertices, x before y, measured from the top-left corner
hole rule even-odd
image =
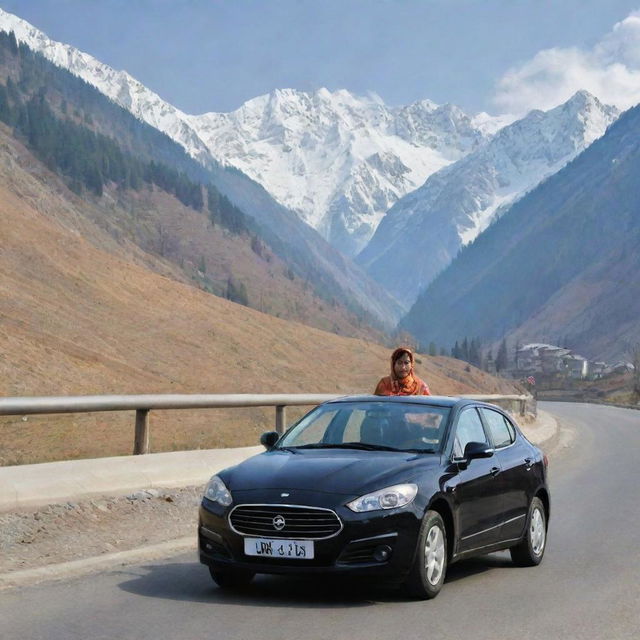
[[[226,470],[230,491],[298,489],[361,495],[391,484],[414,481],[439,463],[439,455],[395,451],[269,451]]]

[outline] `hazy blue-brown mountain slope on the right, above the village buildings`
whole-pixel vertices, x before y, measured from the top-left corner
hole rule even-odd
[[[562,336],[591,358],[628,357],[640,342],[639,134],[635,107],[465,248],[401,325],[442,345]]]

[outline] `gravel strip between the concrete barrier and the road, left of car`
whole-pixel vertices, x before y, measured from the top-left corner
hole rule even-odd
[[[203,489],[147,489],[0,513],[0,574],[186,536],[195,544]]]

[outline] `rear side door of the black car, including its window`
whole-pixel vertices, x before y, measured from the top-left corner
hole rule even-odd
[[[502,469],[504,511],[501,515],[500,538],[517,539],[524,530],[531,485],[535,482],[531,473],[534,454],[522,438],[517,438],[515,427],[502,413],[481,407],[480,414],[489,431],[495,458]]]

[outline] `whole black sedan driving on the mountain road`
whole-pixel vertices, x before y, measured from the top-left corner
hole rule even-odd
[[[213,476],[200,561],[222,588],[255,574],[374,578],[435,597],[447,567],[509,549],[542,561],[547,458],[501,408],[438,396],[325,402]]]

